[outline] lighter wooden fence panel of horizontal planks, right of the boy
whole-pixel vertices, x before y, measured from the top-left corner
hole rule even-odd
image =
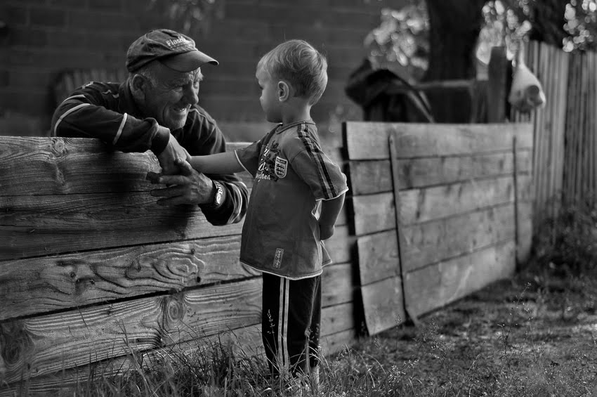
[[[346,124],[369,333],[511,275],[532,237],[530,124]]]

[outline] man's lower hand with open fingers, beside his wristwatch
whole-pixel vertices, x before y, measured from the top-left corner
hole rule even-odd
[[[176,141],[176,140],[175,140]],[[151,195],[164,197],[157,200],[159,205],[206,204],[214,198],[214,183],[211,179],[192,169],[188,161],[177,158],[173,166],[178,175],[148,172],[147,179],[151,183],[162,183],[164,189],[153,189]]]

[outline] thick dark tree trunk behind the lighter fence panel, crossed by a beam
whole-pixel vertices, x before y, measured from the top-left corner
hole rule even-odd
[[[483,26],[485,0],[426,0],[429,13],[429,67],[426,81],[474,79],[475,48]],[[426,92],[436,122],[469,122],[468,89]]]

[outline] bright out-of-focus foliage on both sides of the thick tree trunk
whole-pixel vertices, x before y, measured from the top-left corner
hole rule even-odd
[[[554,0],[568,1],[568,0]],[[510,58],[521,41],[528,38],[534,25],[550,25],[546,30],[562,34],[558,20],[546,18],[539,11],[547,0],[490,0],[483,6],[484,26],[479,35],[477,57],[489,61],[492,46],[505,44]],[[407,6],[394,10],[383,8],[380,23],[365,38],[365,46],[378,63],[394,62],[413,69],[426,70],[430,50],[429,18],[424,0],[409,0]],[[563,30],[570,35],[561,44],[565,51],[597,49],[597,0],[570,0],[562,15]]]

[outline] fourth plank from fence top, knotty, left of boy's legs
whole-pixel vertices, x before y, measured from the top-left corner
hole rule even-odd
[[[261,323],[261,278],[0,324],[0,383]]]

